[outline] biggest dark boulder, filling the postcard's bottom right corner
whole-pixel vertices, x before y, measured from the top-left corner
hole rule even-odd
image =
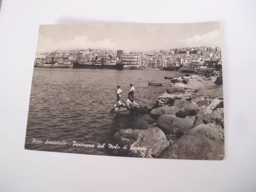
[[[160,158],[223,160],[224,141],[206,125],[199,125],[166,147]]]

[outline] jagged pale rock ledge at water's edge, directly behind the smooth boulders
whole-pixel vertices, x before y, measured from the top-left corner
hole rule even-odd
[[[186,93],[180,93],[180,94],[163,93],[162,95],[160,95],[156,98],[156,105],[158,107],[173,106],[174,100],[176,100],[176,99],[191,100],[192,97],[193,96],[191,94],[186,94]]]

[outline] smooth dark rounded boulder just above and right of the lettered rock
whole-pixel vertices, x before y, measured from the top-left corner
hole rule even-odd
[[[166,135],[172,135],[176,138],[186,134],[193,126],[193,122],[190,119],[178,118],[167,114],[160,116],[157,124]]]

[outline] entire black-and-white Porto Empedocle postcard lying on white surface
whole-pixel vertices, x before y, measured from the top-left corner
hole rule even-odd
[[[40,25],[26,150],[224,159],[218,22]]]

